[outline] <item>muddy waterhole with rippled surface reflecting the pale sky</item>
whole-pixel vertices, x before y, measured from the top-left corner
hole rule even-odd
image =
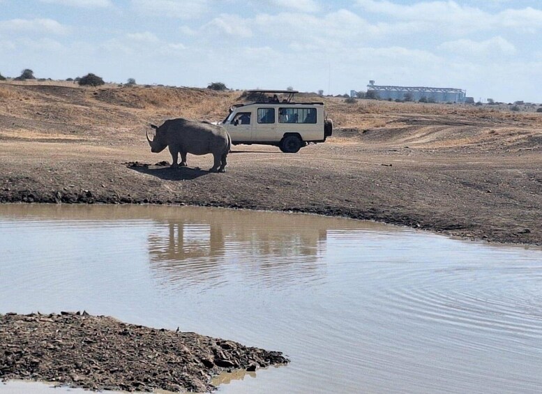
[[[541,250],[308,215],[7,205],[0,255],[1,313],[86,310],[292,359],[219,393],[542,391]]]

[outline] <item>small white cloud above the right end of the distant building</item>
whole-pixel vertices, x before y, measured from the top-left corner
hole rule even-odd
[[[439,45],[439,49],[463,56],[511,55],[516,52],[515,46],[500,36],[484,41],[474,41],[466,38],[447,41]]]

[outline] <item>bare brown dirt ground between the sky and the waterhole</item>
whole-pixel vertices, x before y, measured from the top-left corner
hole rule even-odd
[[[333,137],[300,153],[234,146],[211,156],[151,153],[149,123],[218,121],[241,92],[156,86],[0,84],[0,202],[195,204],[377,220],[502,243],[542,245],[542,114],[534,106],[319,98]],[[313,100],[313,99],[311,99]]]

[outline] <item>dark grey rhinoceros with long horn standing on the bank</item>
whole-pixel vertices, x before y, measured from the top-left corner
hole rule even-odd
[[[151,152],[159,153],[169,147],[172,154],[172,167],[177,167],[179,153],[181,153],[181,166],[186,165],[186,153],[193,155],[206,155],[213,153],[214,164],[210,172],[224,172],[226,158],[232,147],[232,139],[222,126],[209,122],[190,121],[188,119],[170,119],[162,126],[151,125],[156,129],[154,139],[146,139],[151,146]]]

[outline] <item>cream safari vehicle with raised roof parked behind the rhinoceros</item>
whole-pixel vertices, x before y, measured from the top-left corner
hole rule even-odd
[[[303,146],[326,141],[333,123],[326,117],[324,103],[296,103],[295,93],[299,91],[246,91],[249,102],[233,105],[220,124],[234,145],[274,145],[296,153]]]

